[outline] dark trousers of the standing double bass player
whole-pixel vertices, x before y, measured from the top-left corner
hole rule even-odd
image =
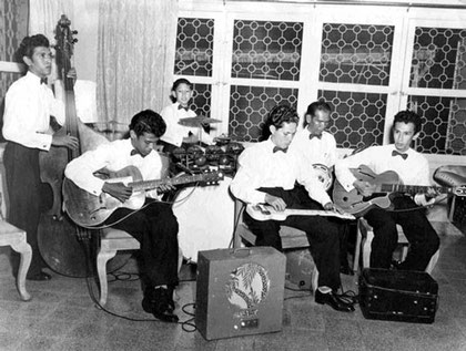
[[[47,267],[38,245],[40,215],[47,208],[42,203],[44,185],[40,180],[39,149],[9,142],[4,149],[3,163],[10,199],[8,221],[27,233],[28,244],[32,248],[32,260],[28,271],[28,277],[31,277]],[[16,272],[19,258],[14,254],[12,262]]]

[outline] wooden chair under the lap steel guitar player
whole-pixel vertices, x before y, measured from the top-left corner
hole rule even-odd
[[[235,231],[233,235],[234,248],[241,247],[243,240],[249,242],[250,245],[255,244],[255,238],[256,238],[255,235],[243,223],[244,208],[245,208],[245,205],[242,202],[236,199],[235,200],[235,221],[237,221],[237,224],[236,224]],[[307,240],[307,236],[303,230],[292,228],[288,226],[281,226],[280,237],[282,239],[283,250],[310,247],[310,241]],[[312,286],[313,291],[317,289],[317,280],[318,280],[318,271],[317,271],[317,268],[314,266],[314,270],[311,275],[311,286]]]

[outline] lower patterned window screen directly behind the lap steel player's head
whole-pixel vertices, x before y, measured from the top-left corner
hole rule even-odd
[[[296,107],[297,90],[264,86],[231,87],[229,134],[245,142],[262,141],[269,111],[281,103]]]

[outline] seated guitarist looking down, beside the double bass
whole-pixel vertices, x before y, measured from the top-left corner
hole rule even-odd
[[[102,144],[74,158],[68,164],[65,176],[90,194],[103,192],[124,203],[132,194],[130,187],[123,183],[105,182],[93,174],[102,168],[118,172],[135,166],[143,179],[160,178],[162,161],[153,147],[165,128],[165,122],[158,113],[142,111],[131,120],[129,140]],[[171,186],[163,186],[162,190],[168,188]],[[144,311],[158,319],[176,322],[173,289],[178,285],[179,226],[170,205],[155,200],[155,197],[156,190],[148,192],[140,210],[116,208],[104,224],[128,231],[141,244]]]

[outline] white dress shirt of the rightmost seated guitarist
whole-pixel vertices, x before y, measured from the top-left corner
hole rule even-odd
[[[403,159],[401,156],[392,156],[395,149],[393,144],[372,146],[361,153],[338,159],[335,164],[336,178],[350,192],[354,189],[353,183],[356,180],[350,168],[366,165],[376,174],[395,171],[404,185],[430,186],[427,158],[409,148],[406,152],[407,158]]]

